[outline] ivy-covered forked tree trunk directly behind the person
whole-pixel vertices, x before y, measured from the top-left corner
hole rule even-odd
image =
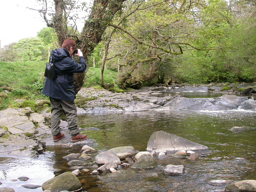
[[[80,36],[75,36],[76,26],[74,26],[74,33],[68,32],[68,20],[76,20],[77,15],[72,15],[74,9],[79,8],[77,2],[74,0],[54,0],[54,14],[48,14],[48,0],[39,0],[44,5],[44,8],[38,10],[44,18],[47,26],[55,29],[58,42],[61,45],[66,38],[74,38],[78,47],[82,50],[85,60],[96,45],[102,40],[102,34],[106,30],[108,24],[112,21],[116,12],[122,8],[122,3],[126,0],[94,0],[90,15],[85,21],[84,28]],[[51,18],[49,19],[48,16]],[[84,73],[75,74],[75,92],[77,93],[84,80]]]

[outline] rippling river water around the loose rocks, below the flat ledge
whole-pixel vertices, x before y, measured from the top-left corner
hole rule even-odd
[[[166,111],[134,112],[122,114],[79,115],[79,126],[92,138],[96,150],[109,150],[119,146],[133,146],[145,151],[151,134],[155,131],[176,134],[193,142],[208,146],[207,156],[199,160],[157,158],[158,167],[148,170],[120,169],[120,173],[96,176],[81,174],[82,192],[220,192],[224,186],[212,186],[210,180],[256,180],[256,129],[234,133],[234,126],[256,127],[255,111]],[[28,190],[21,185],[42,185],[55,175],[68,171],[62,159],[70,153],[80,152],[80,147],[48,147],[35,159],[0,158],[0,187],[12,187],[16,192],[42,192],[42,188]],[[200,154],[200,152],[199,152]],[[94,154],[92,154],[93,160]],[[89,161],[92,171],[94,162]],[[184,165],[180,176],[166,175],[162,169],[168,164]],[[52,170],[59,169],[58,171]],[[69,170],[70,171],[70,170]],[[15,181],[20,176],[30,179]]]

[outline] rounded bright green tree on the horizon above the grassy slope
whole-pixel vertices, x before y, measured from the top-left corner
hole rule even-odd
[[[24,38],[13,46],[16,61],[40,61],[43,50],[47,49],[39,38]]]

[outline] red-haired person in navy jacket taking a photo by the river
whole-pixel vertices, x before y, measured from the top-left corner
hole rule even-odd
[[[71,58],[72,55],[79,57],[78,63]],[[79,133],[76,104],[74,103],[74,73],[83,73],[86,70],[83,54],[80,49],[76,50],[74,40],[65,39],[62,48],[52,50],[51,59],[58,77],[55,80],[46,78],[42,94],[50,97],[53,141],[58,142],[65,137],[64,133],[60,132],[62,108],[66,112],[72,142],[85,140],[87,136]]]

